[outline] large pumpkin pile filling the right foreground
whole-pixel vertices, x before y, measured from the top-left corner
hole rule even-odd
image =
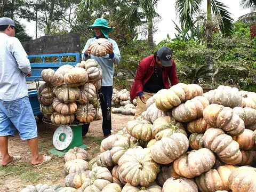
[[[255,94],[229,86],[204,94],[183,83],[161,90],[89,163],[70,149],[65,184],[82,192],[256,191]]]

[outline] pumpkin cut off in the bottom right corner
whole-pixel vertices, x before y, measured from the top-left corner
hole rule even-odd
[[[256,191],[256,170],[242,166],[235,169],[228,178],[228,186],[233,192]]]

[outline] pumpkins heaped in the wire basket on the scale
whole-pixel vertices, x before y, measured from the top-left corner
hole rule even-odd
[[[44,118],[55,125],[71,124],[75,119],[89,123],[102,117],[99,94],[102,69],[88,59],[75,67],[63,65],[56,71],[42,70],[38,82],[38,101]]]

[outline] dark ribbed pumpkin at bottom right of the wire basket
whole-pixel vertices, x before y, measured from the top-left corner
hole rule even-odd
[[[95,117],[96,109],[92,104],[79,105],[76,111],[76,119],[82,123],[89,123]]]

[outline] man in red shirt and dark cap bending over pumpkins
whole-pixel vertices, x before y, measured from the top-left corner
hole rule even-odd
[[[146,110],[146,102],[161,89],[170,89],[171,85],[178,84],[176,65],[172,59],[172,51],[169,47],[161,47],[154,55],[140,61],[135,81],[130,91],[131,100],[137,96],[137,111],[135,118]]]

